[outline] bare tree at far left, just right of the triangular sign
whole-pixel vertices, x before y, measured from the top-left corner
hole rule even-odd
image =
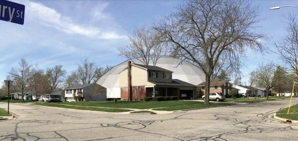
[[[29,65],[28,62],[21,58],[19,62],[19,68],[11,68],[8,72],[10,77],[14,80],[14,86],[17,91],[21,92],[22,100],[24,101],[24,95],[29,92],[29,81],[33,75],[34,68]]]

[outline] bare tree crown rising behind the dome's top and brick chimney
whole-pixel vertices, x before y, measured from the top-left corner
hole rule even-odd
[[[154,30],[148,30],[145,26],[136,28],[133,36],[129,36],[129,41],[129,45],[118,48],[119,55],[131,60],[141,57],[138,60],[145,65],[152,62],[155,66],[157,60],[165,53],[166,42],[162,41],[162,36]]]

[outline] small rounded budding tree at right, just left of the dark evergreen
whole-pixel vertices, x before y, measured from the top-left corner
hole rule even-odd
[[[259,68],[256,70],[257,85],[265,87],[267,99],[269,96],[269,90],[274,87],[276,83],[273,79],[274,71],[275,68],[273,64],[259,65]]]

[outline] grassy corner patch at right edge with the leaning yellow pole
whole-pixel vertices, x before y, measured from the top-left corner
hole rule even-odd
[[[289,119],[289,120],[298,120],[298,104],[291,106],[289,114],[287,115],[288,107],[279,110],[276,115],[281,118]]]

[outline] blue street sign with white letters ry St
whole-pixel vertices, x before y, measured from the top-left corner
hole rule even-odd
[[[25,5],[0,0],[0,20],[24,24]]]

